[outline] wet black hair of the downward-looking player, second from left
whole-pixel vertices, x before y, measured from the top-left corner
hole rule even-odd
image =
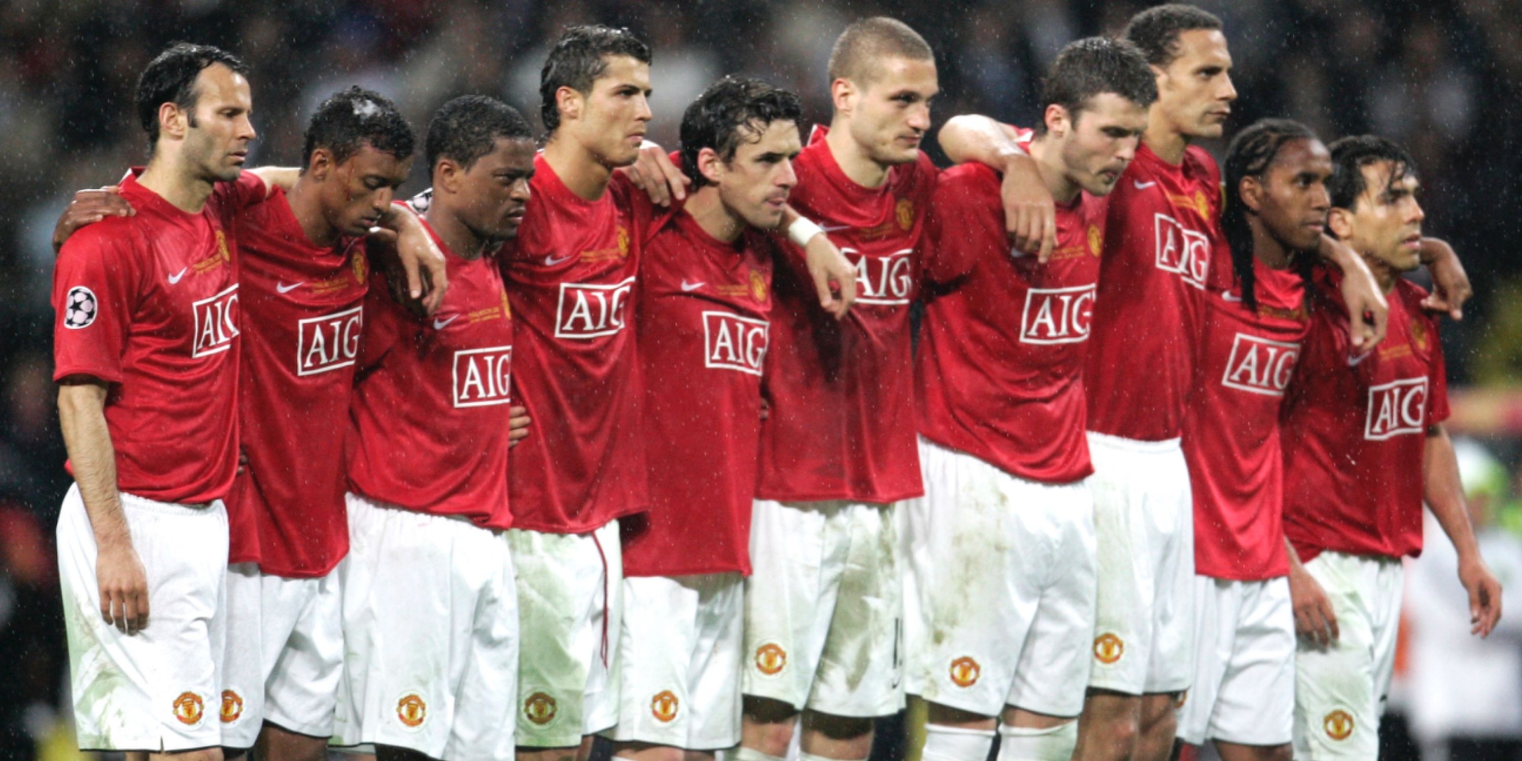
[[[367,145],[406,160],[417,148],[417,134],[402,119],[396,103],[379,93],[361,87],[333,93],[306,123],[301,170],[310,166],[312,151],[318,148],[326,148],[333,154],[333,163],[341,164]]]

